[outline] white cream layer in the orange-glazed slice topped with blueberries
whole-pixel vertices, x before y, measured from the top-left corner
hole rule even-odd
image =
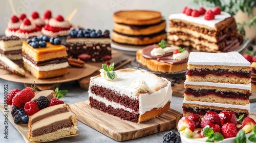
[[[68,62],[54,63],[54,64],[48,64],[48,65],[44,65],[44,66],[36,66],[31,61],[27,60],[25,57],[23,57],[23,61],[27,62],[30,66],[32,66],[33,68],[35,68],[38,71],[50,71],[50,70],[55,70],[55,69],[60,69],[60,68],[66,68],[69,66]]]

